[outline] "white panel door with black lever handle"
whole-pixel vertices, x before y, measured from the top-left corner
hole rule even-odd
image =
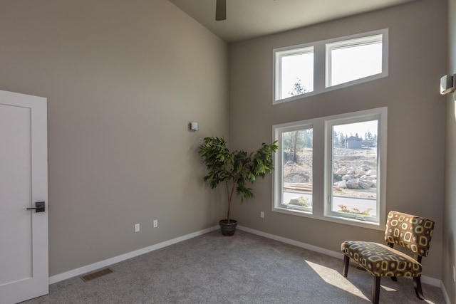
[[[0,90],[0,303],[49,290],[47,145],[46,98]]]

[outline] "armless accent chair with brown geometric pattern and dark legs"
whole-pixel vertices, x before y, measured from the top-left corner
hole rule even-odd
[[[386,221],[385,241],[388,246],[368,241],[344,241],[341,245],[344,259],[343,276],[348,274],[350,258],[373,275],[372,303],[378,303],[380,278],[390,276],[397,281],[398,276],[411,276],[418,298],[424,299],[421,288],[421,258],[429,253],[434,221],[420,216],[390,211]],[[397,251],[397,244],[410,249],[414,258]]]

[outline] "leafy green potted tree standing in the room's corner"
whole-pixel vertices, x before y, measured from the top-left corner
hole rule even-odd
[[[250,153],[244,150],[229,152],[223,137],[204,138],[198,150],[208,172],[204,181],[211,189],[224,182],[227,190],[227,219],[219,221],[222,234],[232,236],[236,231],[237,221],[229,216],[234,192],[241,197],[241,201],[254,197],[252,188],[248,186],[253,184],[257,177],[264,178],[272,172],[272,152],[277,148],[276,142],[273,142],[271,145],[263,143],[258,150]]]

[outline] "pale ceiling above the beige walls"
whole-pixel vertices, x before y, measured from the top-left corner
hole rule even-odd
[[[216,0],[169,1],[232,43],[416,0],[227,0],[224,21],[215,21]]]

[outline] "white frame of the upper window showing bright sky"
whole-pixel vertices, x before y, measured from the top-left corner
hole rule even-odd
[[[382,72],[370,75],[364,78],[359,78],[356,80],[349,81],[347,83],[340,83],[338,85],[329,85],[330,83],[330,76],[328,76],[330,68],[330,59],[328,58],[328,48],[330,49],[331,46],[341,46],[343,43],[352,43],[351,46],[354,46],[353,43],[366,43],[371,41],[372,39],[377,39],[378,35],[381,35],[382,39]],[[273,53],[273,83],[272,85],[272,104],[277,105],[281,103],[285,103],[291,100],[296,100],[300,98],[307,98],[313,95],[326,93],[331,90],[337,90],[339,88],[346,88],[351,85],[358,85],[360,83],[366,83],[368,81],[377,80],[380,78],[388,77],[388,41],[389,41],[389,31],[388,28],[383,28],[376,31],[369,31],[366,33],[357,33],[349,36],[331,38],[323,41],[316,41],[311,43],[304,43],[299,44],[296,46],[286,46],[283,48],[274,48],[272,50]],[[327,45],[329,45],[327,47]],[[281,99],[281,93],[279,90],[281,89],[281,66],[280,66],[280,55],[281,53],[293,53],[294,51],[299,51],[303,48],[314,48],[314,90],[309,93],[304,93],[302,95],[291,96],[289,98]]]

